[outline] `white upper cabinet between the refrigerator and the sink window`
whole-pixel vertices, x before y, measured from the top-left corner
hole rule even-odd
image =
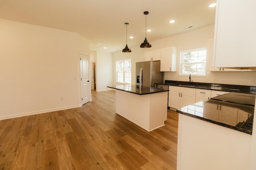
[[[176,56],[176,47],[161,49],[160,71],[176,71]]]

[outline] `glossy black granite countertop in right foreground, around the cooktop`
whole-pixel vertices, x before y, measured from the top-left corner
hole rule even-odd
[[[210,99],[182,107],[176,111],[252,135],[254,106]]]

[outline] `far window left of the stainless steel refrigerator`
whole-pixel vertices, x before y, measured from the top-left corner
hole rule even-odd
[[[131,59],[116,61],[116,82],[131,84]]]

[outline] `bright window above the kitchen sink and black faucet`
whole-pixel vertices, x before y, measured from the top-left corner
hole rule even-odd
[[[180,52],[180,75],[205,76],[206,48]]]

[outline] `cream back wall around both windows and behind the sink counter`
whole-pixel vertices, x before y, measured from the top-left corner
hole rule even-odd
[[[188,77],[179,76],[179,61],[180,61],[180,51],[199,49],[207,47],[208,39],[214,37],[214,25],[208,27],[203,27],[196,29],[194,31],[189,31],[158,41],[150,41],[150,36],[148,41],[152,44],[151,48],[143,49],[138,47],[130,47],[131,53],[122,53],[118,51],[113,54],[113,77],[115,77],[115,61],[121,59],[132,59],[132,84],[135,84],[135,63],[138,61],[144,61],[145,51],[151,51],[155,49],[161,49],[165,47],[175,46],[177,47],[177,71],[176,72],[164,72],[165,80],[177,80],[177,81],[189,81]],[[232,62],[232,61],[231,61]],[[212,82],[212,78],[215,78],[215,82]],[[250,79],[256,78],[256,72],[206,72],[205,78],[196,78],[192,76],[193,82],[206,82],[206,83],[218,83],[218,84],[237,84],[237,85],[247,85]],[[115,84],[115,80],[113,84]],[[255,86],[252,85],[252,86]]]

